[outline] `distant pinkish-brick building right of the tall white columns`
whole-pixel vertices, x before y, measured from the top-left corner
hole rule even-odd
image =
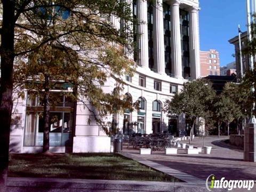
[[[220,75],[220,58],[216,50],[200,51],[201,76]]]

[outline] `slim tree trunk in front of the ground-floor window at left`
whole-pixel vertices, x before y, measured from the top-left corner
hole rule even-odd
[[[50,87],[49,87],[49,76],[45,75],[44,82],[44,142],[43,142],[43,153],[49,153],[50,149]]]

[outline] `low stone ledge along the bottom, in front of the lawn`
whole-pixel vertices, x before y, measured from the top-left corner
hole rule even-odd
[[[205,191],[205,185],[182,182],[8,178],[7,192],[78,192],[78,191]],[[224,190],[217,190],[224,191]]]

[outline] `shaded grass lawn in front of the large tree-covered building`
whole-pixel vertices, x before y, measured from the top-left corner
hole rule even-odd
[[[9,177],[179,181],[118,154],[12,154]]]

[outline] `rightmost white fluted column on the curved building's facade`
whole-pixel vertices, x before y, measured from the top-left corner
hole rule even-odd
[[[190,7],[188,11],[190,76],[196,79],[200,76],[198,8]]]

